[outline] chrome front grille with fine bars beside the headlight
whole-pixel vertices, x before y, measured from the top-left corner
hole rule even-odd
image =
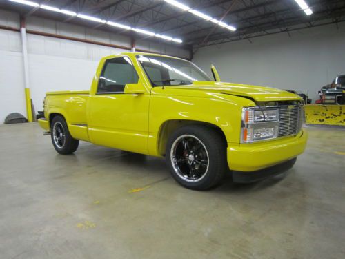
[[[304,122],[304,108],[302,105],[279,107],[278,137],[296,135],[301,131]]]

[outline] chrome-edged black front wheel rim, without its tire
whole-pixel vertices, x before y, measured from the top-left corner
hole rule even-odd
[[[170,160],[175,173],[186,182],[199,182],[208,172],[206,146],[193,135],[181,135],[172,143]]]

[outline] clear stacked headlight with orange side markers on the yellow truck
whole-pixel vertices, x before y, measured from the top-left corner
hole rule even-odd
[[[277,109],[244,108],[242,110],[242,143],[277,137],[279,111]]]

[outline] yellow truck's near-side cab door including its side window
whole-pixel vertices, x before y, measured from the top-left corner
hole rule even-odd
[[[95,95],[88,103],[88,133],[94,144],[148,153],[150,93],[124,93],[126,84],[141,84],[128,57],[108,59]],[[144,87],[143,87],[144,88]]]

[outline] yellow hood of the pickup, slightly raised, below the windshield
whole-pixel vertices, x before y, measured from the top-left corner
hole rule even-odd
[[[236,95],[248,97],[257,102],[269,101],[287,101],[302,99],[299,95],[289,93],[285,90],[270,88],[264,86],[250,86],[246,84],[231,84],[215,81],[194,81],[190,86],[167,86],[166,88],[199,90],[212,93],[224,93],[227,95]]]

